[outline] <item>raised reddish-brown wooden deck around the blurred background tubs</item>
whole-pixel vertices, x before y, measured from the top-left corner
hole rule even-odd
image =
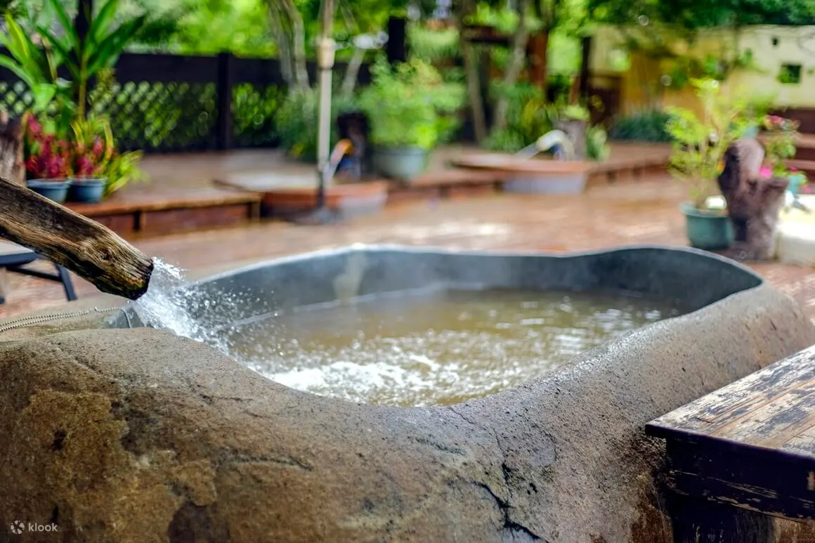
[[[453,157],[474,152],[480,151],[466,146],[440,148],[431,155],[425,174],[409,187],[401,183],[389,183],[390,187],[385,183],[338,185],[329,188],[329,204],[338,205],[337,198],[353,200],[355,196],[363,201],[371,195],[385,198],[386,187],[391,202],[500,190],[502,179],[494,174],[450,166]],[[590,183],[663,170],[666,161],[664,145],[615,144],[607,161],[593,165]],[[304,205],[313,205],[315,200],[315,166],[291,161],[279,150],[154,155],[143,160],[143,170],[149,178],[146,183],[132,183],[99,204],[68,207],[121,235],[155,236],[245,224],[257,219],[264,205],[268,210],[277,207],[280,198]],[[270,190],[280,193],[276,199],[267,192]]]

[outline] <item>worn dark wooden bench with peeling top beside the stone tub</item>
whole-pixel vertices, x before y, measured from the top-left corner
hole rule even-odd
[[[772,517],[815,519],[815,346],[645,430],[666,440],[675,541],[773,541]]]

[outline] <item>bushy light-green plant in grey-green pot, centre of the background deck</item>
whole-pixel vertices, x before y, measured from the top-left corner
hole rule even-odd
[[[372,84],[359,96],[371,120],[374,166],[387,177],[410,181],[427,166],[430,151],[455,128],[463,103],[460,86],[445,82],[421,60],[372,68]]]

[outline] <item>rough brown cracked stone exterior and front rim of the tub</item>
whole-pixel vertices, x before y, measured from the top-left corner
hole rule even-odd
[[[645,422],[813,343],[762,285],[525,386],[386,408],[292,391],[152,329],[0,342],[0,527],[59,526],[10,541],[669,543]]]

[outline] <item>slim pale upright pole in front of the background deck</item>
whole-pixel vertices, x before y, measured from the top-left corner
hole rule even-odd
[[[319,65],[319,124],[317,126],[317,209],[325,206],[325,186],[331,183],[326,179],[331,169],[328,167],[328,153],[331,146],[331,75],[334,67],[336,43],[332,39],[334,22],[334,0],[323,0],[323,29],[317,50]]]

